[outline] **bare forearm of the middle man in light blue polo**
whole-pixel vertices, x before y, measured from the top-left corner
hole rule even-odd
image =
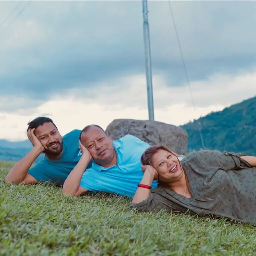
[[[70,172],[67,179],[63,184],[62,193],[65,195],[74,195],[79,189],[80,181],[83,176],[83,173],[90,162],[90,157],[81,156],[79,162],[75,168]]]

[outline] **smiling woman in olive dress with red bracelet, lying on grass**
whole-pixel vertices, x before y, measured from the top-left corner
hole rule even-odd
[[[140,211],[168,210],[256,224],[256,157],[215,150],[181,161],[164,146],[141,158],[144,176],[133,197]],[[158,187],[151,190],[154,179]]]

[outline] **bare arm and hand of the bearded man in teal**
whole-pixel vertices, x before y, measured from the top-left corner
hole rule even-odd
[[[28,170],[44,149],[40,141],[34,135],[34,129],[28,131],[27,134],[34,147],[10,170],[5,178],[6,183],[37,184],[37,180],[28,174]]]

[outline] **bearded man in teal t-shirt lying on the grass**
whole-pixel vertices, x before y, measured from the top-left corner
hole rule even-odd
[[[37,117],[32,120],[27,135],[33,148],[11,169],[6,182],[14,184],[50,182],[63,185],[82,155],[78,146],[80,133],[81,130],[73,130],[62,138],[52,119]],[[41,153],[44,153],[44,159],[31,167]],[[88,168],[90,167],[91,162],[88,165]]]

